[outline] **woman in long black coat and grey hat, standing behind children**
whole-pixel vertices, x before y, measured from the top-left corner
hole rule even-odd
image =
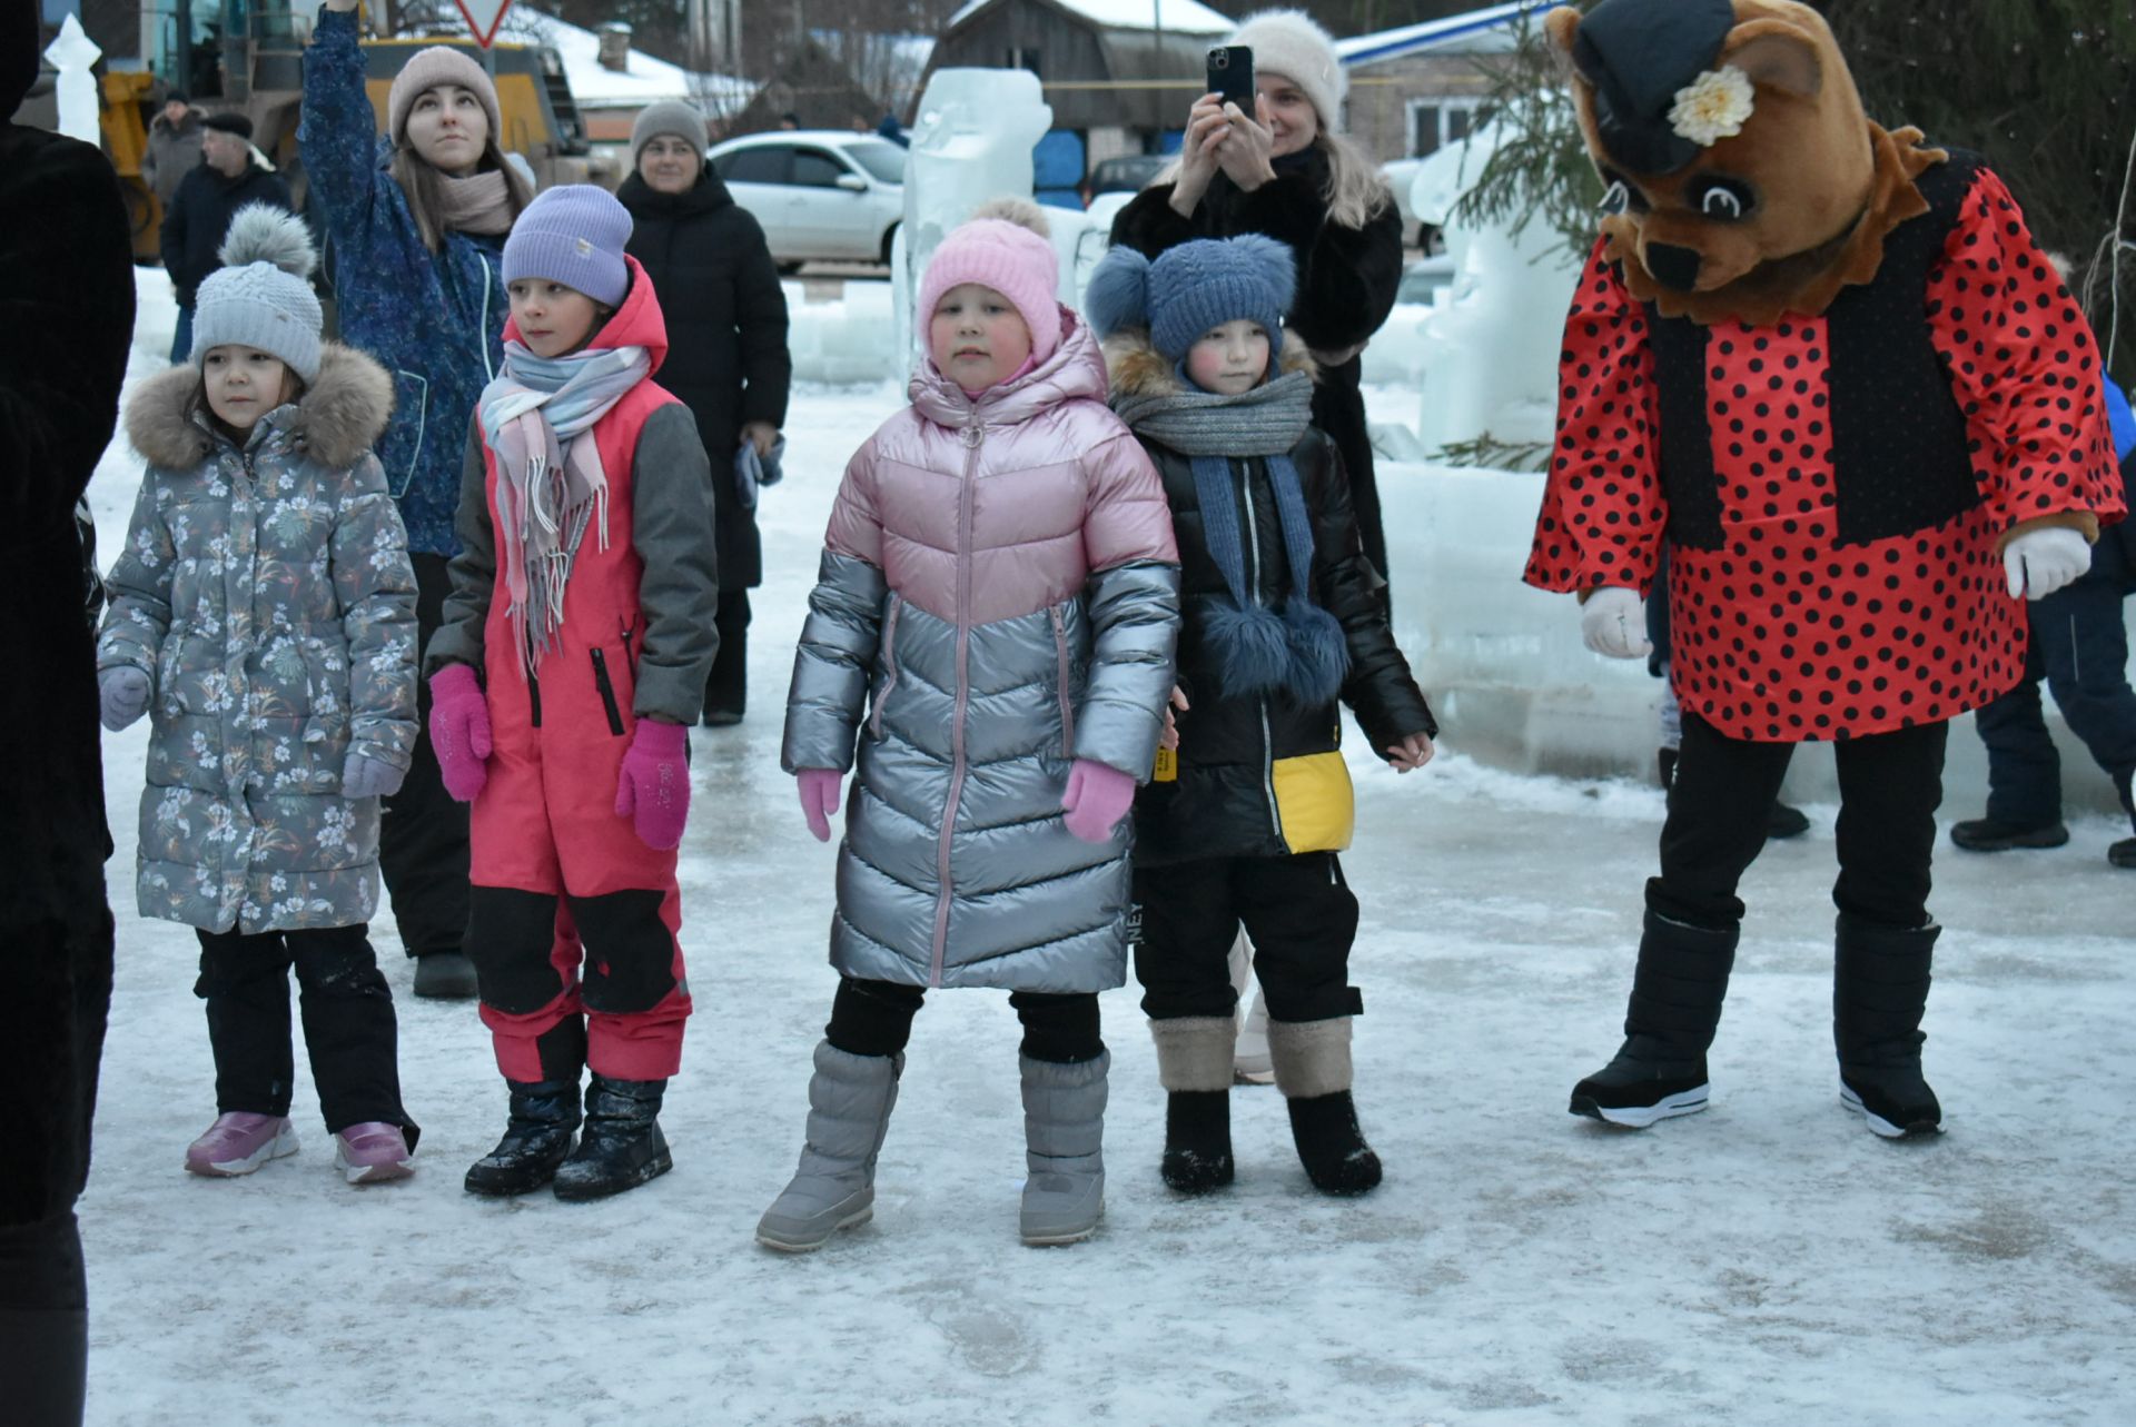
[[[771,451],[786,421],[792,357],[786,295],[765,231],[705,167],[705,120],[686,103],[649,105],[630,130],[634,173],[615,197],[630,209],[628,252],[666,314],[660,385],[690,406],[711,457],[720,560],[720,656],[705,722],[739,724],[748,699],[750,590],[765,581],[756,511],[741,502],[741,442]]]

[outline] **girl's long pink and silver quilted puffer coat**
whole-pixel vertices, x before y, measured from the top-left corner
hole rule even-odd
[[[1098,344],[1064,308],[1059,350],[978,399],[923,359],[912,406],[846,466],[784,765],[859,763],[831,925],[850,976],[1126,981],[1132,818],[1087,844],[1059,801],[1077,758],[1149,778],[1179,553],[1158,472],[1104,395]]]

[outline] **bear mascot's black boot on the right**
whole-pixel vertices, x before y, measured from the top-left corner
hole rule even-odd
[[[1920,1017],[1939,934],[1935,923],[1899,931],[1841,914],[1833,938],[1839,1102],[1884,1139],[1944,1132],[1944,1107],[1920,1072]]]

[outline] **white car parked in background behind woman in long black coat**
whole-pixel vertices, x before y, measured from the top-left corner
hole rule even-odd
[[[718,143],[705,156],[765,226],[771,261],[889,263],[906,214],[906,152],[876,135],[792,128]]]

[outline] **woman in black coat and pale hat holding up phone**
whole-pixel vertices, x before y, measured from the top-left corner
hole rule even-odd
[[[1177,169],[1119,211],[1113,244],[1156,258],[1194,237],[1265,233],[1299,254],[1299,297],[1284,329],[1320,363],[1314,425],[1341,451],[1365,555],[1384,579],[1358,355],[1395,310],[1401,214],[1378,169],[1337,132],[1346,79],[1326,32],[1275,11],[1247,17],[1230,43],[1254,49],[1256,113],[1215,94],[1198,98]]]

